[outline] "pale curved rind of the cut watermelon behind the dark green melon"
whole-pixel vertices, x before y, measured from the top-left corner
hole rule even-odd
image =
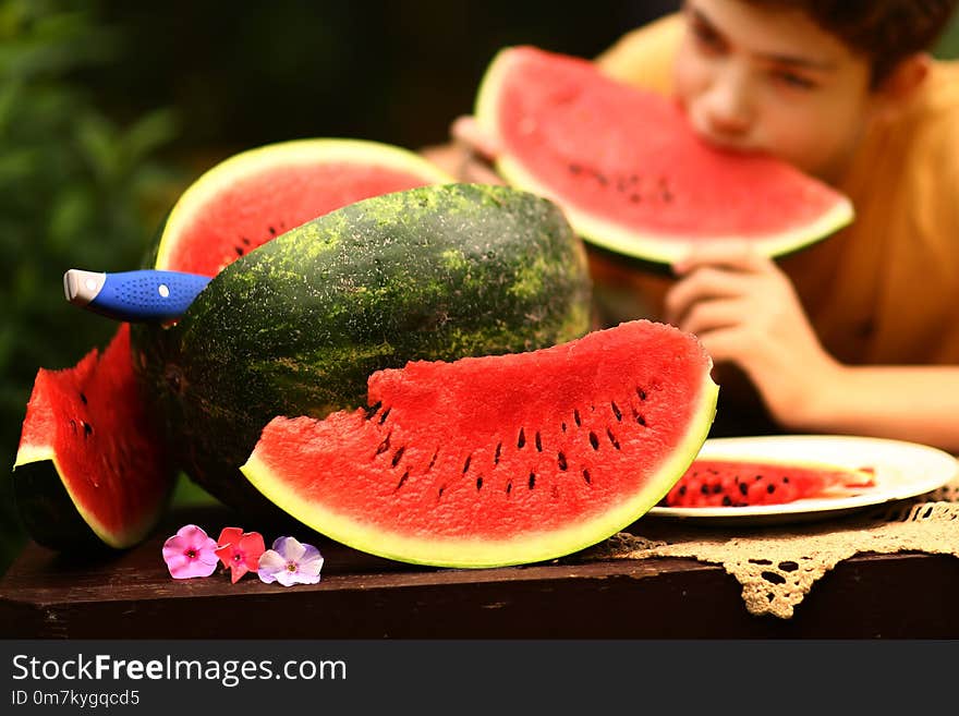
[[[262,169],[276,169],[284,165],[316,166],[332,162],[409,171],[433,183],[453,181],[449,174],[413,151],[367,139],[292,139],[247,149],[207,170],[183,192],[163,223],[153,267],[169,267],[170,253],[174,247],[173,238],[182,235],[197,211],[208,207],[217,194],[238,179],[255,175]]]

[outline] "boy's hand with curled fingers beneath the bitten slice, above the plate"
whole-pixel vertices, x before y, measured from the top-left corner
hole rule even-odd
[[[704,245],[673,270],[680,280],[666,295],[666,320],[696,333],[716,363],[745,371],[781,425],[801,426],[838,364],[786,275],[743,242]]]

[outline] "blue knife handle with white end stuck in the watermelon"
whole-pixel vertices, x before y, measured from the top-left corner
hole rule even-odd
[[[169,320],[183,315],[209,280],[182,271],[96,274],[71,268],[63,275],[63,293],[70,303],[117,320]]]

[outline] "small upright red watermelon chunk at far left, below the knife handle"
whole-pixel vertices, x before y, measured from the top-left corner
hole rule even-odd
[[[39,369],[14,464],[17,507],[37,542],[74,546],[75,513],[112,547],[139,542],[155,525],[174,471],[144,405],[128,324],[102,354]]]

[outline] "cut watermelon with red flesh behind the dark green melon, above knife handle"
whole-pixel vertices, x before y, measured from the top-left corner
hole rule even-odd
[[[298,139],[218,163],[180,197],[154,268],[216,276],[290,229],[361,199],[452,179],[406,149],[361,139]]]

